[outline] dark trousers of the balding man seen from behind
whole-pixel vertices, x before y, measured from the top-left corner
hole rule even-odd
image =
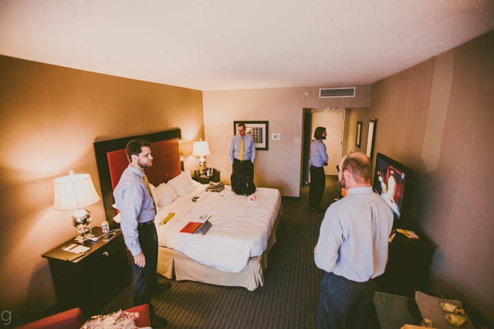
[[[319,329],[368,328],[375,279],[355,282],[324,272],[320,280]]]

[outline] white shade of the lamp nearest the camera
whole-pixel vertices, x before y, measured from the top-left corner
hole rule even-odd
[[[54,209],[59,211],[82,209],[99,201],[99,195],[88,173],[79,173],[54,180]]]

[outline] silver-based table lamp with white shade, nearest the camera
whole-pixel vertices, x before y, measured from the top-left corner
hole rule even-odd
[[[72,214],[73,226],[80,229],[80,236],[75,238],[78,242],[84,242],[93,237],[88,234],[91,230],[91,212],[84,207],[91,206],[99,201],[99,195],[88,173],[73,174],[54,180],[55,201],[54,209],[58,211],[75,210]]]

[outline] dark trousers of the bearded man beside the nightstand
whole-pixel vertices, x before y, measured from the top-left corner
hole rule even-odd
[[[139,245],[145,257],[144,267],[132,264],[132,287],[134,289],[134,305],[150,304],[150,313],[154,315],[151,296],[158,287],[156,267],[158,266],[158,235],[154,223],[138,226]]]

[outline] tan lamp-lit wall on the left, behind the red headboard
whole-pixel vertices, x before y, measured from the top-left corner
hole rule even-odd
[[[76,234],[71,212],[53,210],[53,180],[89,173],[101,195],[95,139],[172,127],[192,169],[202,92],[0,56],[0,109],[0,311],[27,321],[56,303],[41,254]],[[87,209],[99,225],[102,201]]]

